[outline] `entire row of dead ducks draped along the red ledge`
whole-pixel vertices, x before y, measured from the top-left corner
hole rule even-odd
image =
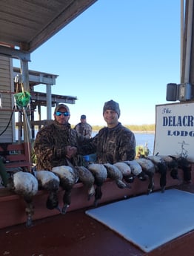
[[[118,188],[130,188],[130,183],[137,177],[139,180],[149,180],[147,194],[154,189],[154,174],[160,174],[161,191],[164,192],[167,183],[167,170],[170,171],[173,179],[178,179],[178,168],[184,172],[184,180],[190,181],[191,165],[184,157],[173,156],[148,156],[132,161],[97,164],[90,163],[87,168],[84,166],[58,166],[52,171],[16,172],[7,185],[11,191],[24,197],[27,204],[26,226],[32,225],[33,217],[33,197],[39,188],[49,191],[46,206],[47,209],[58,209],[65,214],[71,203],[71,191],[73,186],[81,182],[87,187],[87,197],[95,197],[94,206],[98,205],[101,199],[101,186],[107,178],[115,180]],[[58,206],[58,188],[64,190],[63,207]]]

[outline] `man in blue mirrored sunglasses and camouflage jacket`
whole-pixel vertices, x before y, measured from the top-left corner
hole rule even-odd
[[[77,134],[71,128],[70,109],[67,105],[59,104],[54,111],[54,121],[46,125],[36,135],[33,150],[36,154],[36,170],[51,171],[60,165],[81,165],[82,157],[73,157],[72,146],[78,147],[85,137]]]

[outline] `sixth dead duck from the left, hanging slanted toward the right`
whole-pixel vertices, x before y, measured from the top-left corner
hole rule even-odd
[[[111,180],[115,180],[118,188],[130,188],[130,186],[122,181],[123,174],[116,167],[116,165],[111,165],[110,163],[104,163],[105,168],[107,168],[107,177]]]

